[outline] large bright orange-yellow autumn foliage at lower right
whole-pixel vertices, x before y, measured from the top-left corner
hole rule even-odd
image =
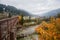
[[[50,23],[43,21],[36,29],[39,40],[60,40],[60,18],[51,18]]]

